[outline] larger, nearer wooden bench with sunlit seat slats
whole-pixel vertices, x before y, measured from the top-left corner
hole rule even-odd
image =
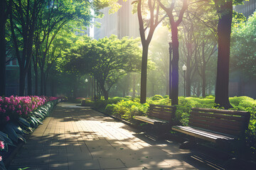
[[[238,139],[242,142],[249,120],[250,113],[245,111],[192,108],[188,126],[177,125],[171,129],[215,143],[223,144]],[[181,145],[181,148],[189,149],[184,147]]]

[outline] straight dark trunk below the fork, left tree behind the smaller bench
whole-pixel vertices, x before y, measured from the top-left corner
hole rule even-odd
[[[142,48],[142,73],[141,73],[140,103],[146,103],[146,69],[147,69],[148,52],[149,52],[149,44],[144,43],[143,48]]]

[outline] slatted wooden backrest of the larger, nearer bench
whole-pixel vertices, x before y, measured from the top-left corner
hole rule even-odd
[[[245,111],[192,108],[188,125],[240,136],[247,129],[249,120],[250,113]]]

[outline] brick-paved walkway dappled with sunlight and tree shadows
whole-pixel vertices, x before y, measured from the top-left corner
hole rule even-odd
[[[212,169],[178,144],[136,131],[90,108],[58,103],[9,169]]]

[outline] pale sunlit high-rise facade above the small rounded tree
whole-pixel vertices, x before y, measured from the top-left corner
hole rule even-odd
[[[109,14],[110,8],[102,9],[104,17],[95,20],[101,23],[100,28],[95,28],[95,39],[110,37],[112,34],[117,35],[117,38],[139,37],[139,21],[137,13],[132,13],[131,1],[119,0],[118,3],[122,7],[116,13]]]

